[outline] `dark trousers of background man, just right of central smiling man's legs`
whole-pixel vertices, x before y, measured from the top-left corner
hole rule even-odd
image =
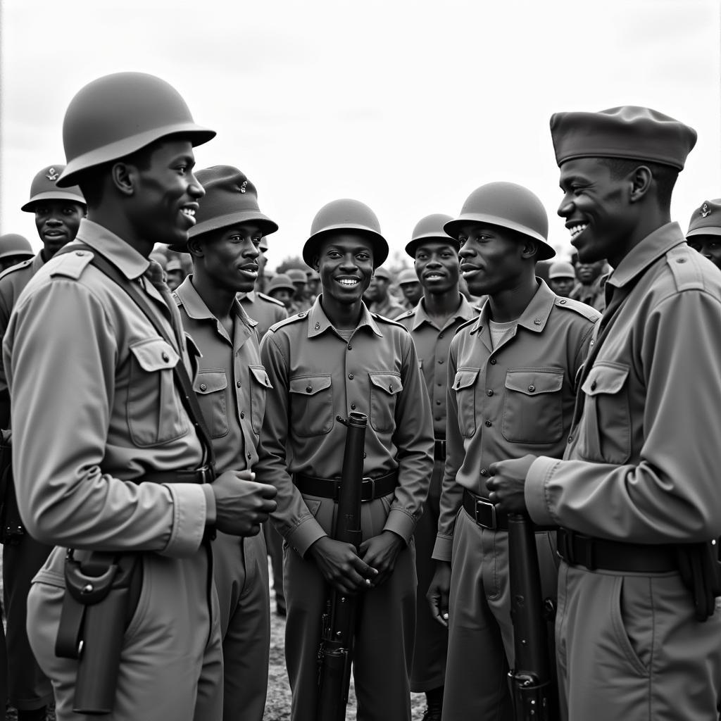
[[[430,477],[428,498],[423,505],[423,515],[418,519],[413,532],[415,570],[418,577],[415,650],[410,678],[410,690],[414,693],[437,689],[438,686],[443,686],[443,679],[446,677],[448,629],[433,618],[428,599],[425,598],[435,572],[435,561],[431,556],[435,534],[438,531],[443,466],[444,461],[435,461],[433,475]]]

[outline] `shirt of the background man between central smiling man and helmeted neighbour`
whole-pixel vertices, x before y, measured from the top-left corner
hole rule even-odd
[[[425,387],[430,399],[435,438],[446,438],[446,390],[448,388],[448,349],[456,330],[466,321],[475,318],[479,309],[474,308],[459,294],[460,304],[439,328],[425,312],[424,299],[417,306],[396,319],[410,331],[418,354],[418,364],[423,371]]]

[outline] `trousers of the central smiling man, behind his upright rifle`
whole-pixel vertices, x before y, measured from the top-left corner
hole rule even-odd
[[[335,503],[305,497],[323,528],[332,528]],[[389,497],[363,503],[363,540],[383,530]],[[308,554],[306,554],[307,556]],[[293,694],[292,721],[317,721],[318,647],[327,584],[311,559],[283,544],[286,588],[286,665]],[[415,637],[415,548],[413,541],[397,557],[385,583],[358,595],[353,682],[358,721],[410,721],[410,667]]]

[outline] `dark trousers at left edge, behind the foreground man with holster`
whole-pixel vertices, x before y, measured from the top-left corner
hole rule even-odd
[[[52,546],[27,533],[6,543],[2,552],[3,590],[7,614],[8,700],[16,709],[39,709],[53,700],[53,686],[27,640],[27,594],[32,578],[48,559]]]

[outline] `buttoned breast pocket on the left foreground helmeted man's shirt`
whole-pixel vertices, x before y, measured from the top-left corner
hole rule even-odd
[[[180,355],[162,338],[135,342],[130,351],[125,410],[133,443],[158,446],[185,435],[190,423],[173,380]]]

